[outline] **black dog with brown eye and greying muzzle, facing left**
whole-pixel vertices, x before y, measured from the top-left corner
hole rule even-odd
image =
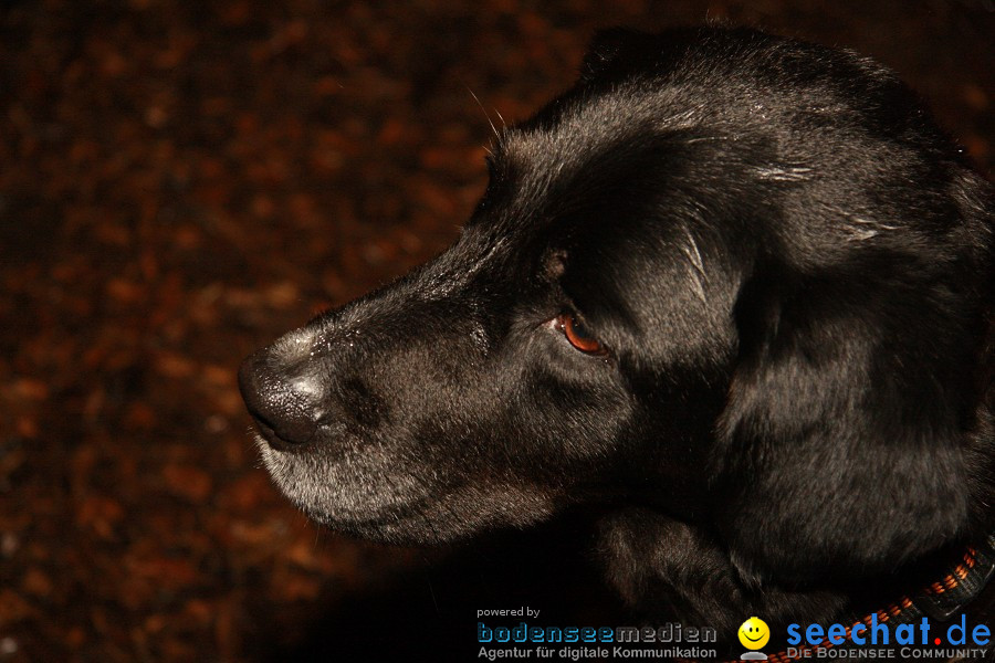
[[[610,31],[493,152],[452,248],[242,366],[312,518],[437,543],[597,504],[630,602],[729,634],[993,530],[995,196],[893,74]]]

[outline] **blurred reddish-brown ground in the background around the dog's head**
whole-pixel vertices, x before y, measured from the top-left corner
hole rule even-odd
[[[0,662],[467,661],[478,609],[629,623],[583,515],[318,532],[235,370],[454,239],[488,115],[567,87],[596,29],[706,18],[883,61],[995,165],[991,0],[0,3]]]

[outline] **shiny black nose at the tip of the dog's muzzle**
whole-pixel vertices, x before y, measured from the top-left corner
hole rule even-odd
[[[242,362],[239,389],[250,414],[279,439],[273,440],[263,429],[263,436],[271,443],[303,444],[317,431],[322,415],[318,377],[295,370],[271,348]]]

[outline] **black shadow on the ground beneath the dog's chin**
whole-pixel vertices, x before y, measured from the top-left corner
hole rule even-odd
[[[314,606],[303,636],[263,635],[253,655],[266,662],[343,660],[475,660],[478,621],[489,627],[618,625],[630,618],[605,586],[594,559],[590,530],[570,519],[502,533],[454,549],[363,593],[328,597]],[[481,617],[478,610],[541,610],[537,619]],[[252,652],[249,652],[252,654]],[[258,656],[258,657],[256,657]]]

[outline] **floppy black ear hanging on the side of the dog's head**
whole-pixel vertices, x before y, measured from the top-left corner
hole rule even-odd
[[[892,571],[964,534],[976,330],[957,288],[898,261],[742,288],[715,513],[744,577]]]

